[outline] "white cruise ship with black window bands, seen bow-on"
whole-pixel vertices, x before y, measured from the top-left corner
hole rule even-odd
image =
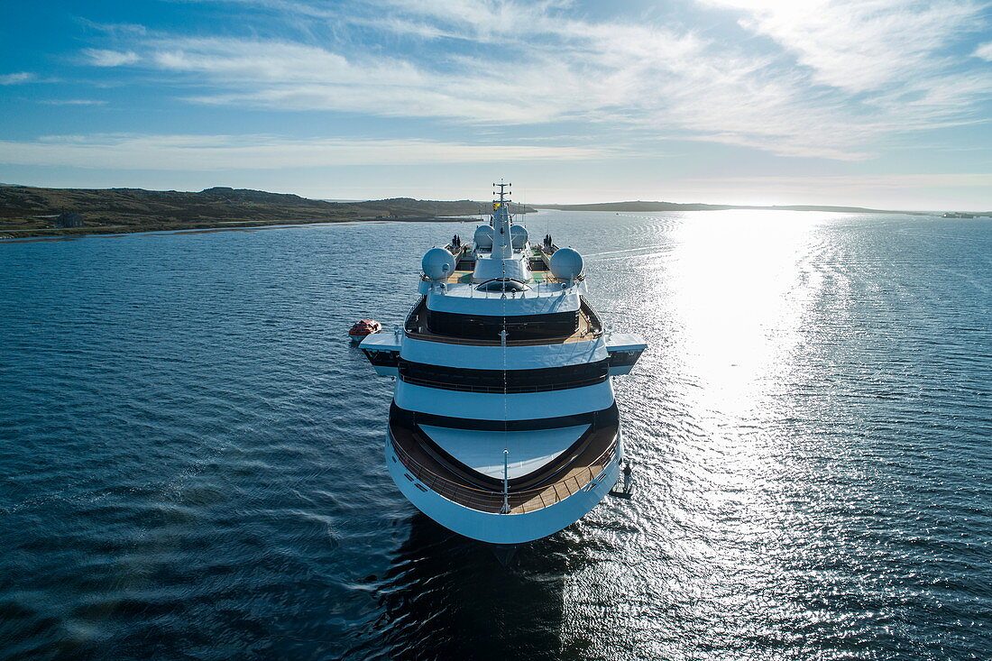
[[[646,344],[604,329],[581,255],[550,235],[532,242],[509,185],[495,187],[471,242],[424,255],[403,328],[359,346],[396,380],[385,459],[400,491],[456,533],[515,546],[571,525],[617,484],[611,377]]]

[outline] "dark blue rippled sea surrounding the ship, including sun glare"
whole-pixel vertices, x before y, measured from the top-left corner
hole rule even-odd
[[[0,658],[992,658],[992,221],[544,212],[637,482],[502,567],[345,333],[470,224],[0,244]]]

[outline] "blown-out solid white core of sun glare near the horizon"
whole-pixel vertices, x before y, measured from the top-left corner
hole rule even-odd
[[[697,402],[726,416],[767,406],[768,379],[788,369],[819,275],[819,243],[800,212],[724,211],[673,232],[666,257],[684,376]]]

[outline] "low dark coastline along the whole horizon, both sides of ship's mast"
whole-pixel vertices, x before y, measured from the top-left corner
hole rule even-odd
[[[148,232],[207,231],[321,225],[343,222],[461,222],[484,214],[488,202],[387,198],[332,201],[292,194],[214,187],[199,192],[144,189],[47,189],[0,185],[0,241],[73,238]],[[591,204],[513,204],[516,213],[540,209],[664,213],[679,211],[825,211],[944,215],[948,212],[892,210],[860,206],[734,205],[667,201],[613,201]],[[980,217],[988,211],[968,212]]]

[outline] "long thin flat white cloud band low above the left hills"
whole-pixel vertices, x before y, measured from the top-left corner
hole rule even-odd
[[[605,158],[581,147],[431,140],[288,139],[271,135],[92,135],[0,141],[0,163],[119,170],[282,170],[357,165],[573,161]]]

